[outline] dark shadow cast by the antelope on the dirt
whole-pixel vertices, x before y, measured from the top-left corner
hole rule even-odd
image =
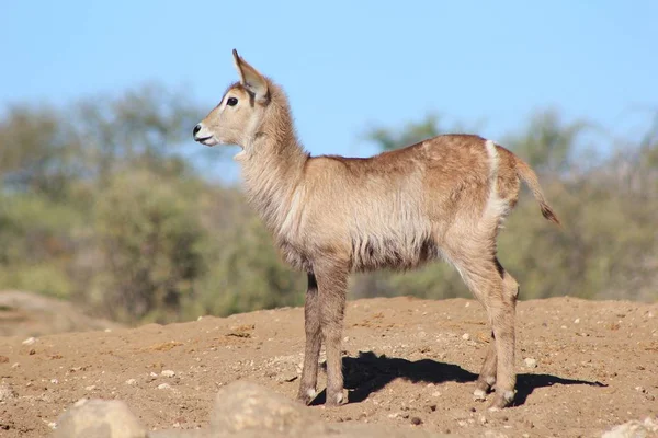
[[[379,391],[395,379],[411,382],[443,383],[447,381],[466,383],[477,380],[477,374],[453,365],[432,359],[407,360],[395,357],[377,356],[373,351],[360,351],[358,357],[344,357],[343,378],[348,392],[348,403],[363,402],[370,394]],[[326,369],[326,362],[322,364]],[[565,379],[551,374],[518,374],[517,396],[514,405],[522,405],[527,396],[537,388],[553,384],[585,384],[590,387],[606,387],[594,381]],[[313,405],[325,403],[326,391],[313,401]]]

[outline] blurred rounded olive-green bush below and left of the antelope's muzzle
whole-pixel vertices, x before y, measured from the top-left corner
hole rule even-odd
[[[101,265],[91,301],[120,320],[177,319],[203,274],[194,198],[154,173],[132,172],[99,194],[94,212]]]

